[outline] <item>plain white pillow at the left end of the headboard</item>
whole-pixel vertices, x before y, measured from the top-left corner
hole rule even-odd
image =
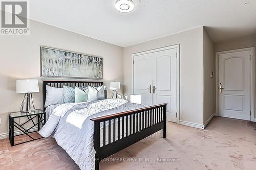
[[[63,88],[46,86],[45,107],[64,103]]]

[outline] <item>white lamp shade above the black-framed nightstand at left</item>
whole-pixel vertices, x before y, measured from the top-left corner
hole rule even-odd
[[[39,92],[38,80],[24,79],[16,80],[16,93],[35,93]]]

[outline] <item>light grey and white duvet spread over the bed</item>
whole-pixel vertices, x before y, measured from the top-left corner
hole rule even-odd
[[[57,106],[45,126],[39,131],[43,137],[52,136],[81,169],[94,169],[93,117],[142,108],[122,99],[106,99],[90,103],[72,103]],[[126,122],[126,119],[124,119]],[[113,121],[112,121],[113,123]],[[106,124],[108,127],[108,123]],[[111,126],[113,130],[113,126]],[[100,130],[102,134],[102,129]],[[108,128],[106,128],[106,135]],[[117,133],[116,133],[117,134]],[[126,134],[124,134],[126,135]],[[117,139],[117,136],[115,136]],[[100,145],[103,144],[101,135]],[[113,141],[113,136],[111,140]],[[106,136],[108,143],[108,136]]]

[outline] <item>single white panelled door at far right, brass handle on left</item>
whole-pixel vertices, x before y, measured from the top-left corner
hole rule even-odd
[[[250,120],[251,51],[219,54],[219,115]]]

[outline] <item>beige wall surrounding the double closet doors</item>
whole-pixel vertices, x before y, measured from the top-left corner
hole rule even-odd
[[[180,120],[203,124],[203,27],[128,46],[123,51],[123,92],[132,93],[132,54],[180,44]]]

